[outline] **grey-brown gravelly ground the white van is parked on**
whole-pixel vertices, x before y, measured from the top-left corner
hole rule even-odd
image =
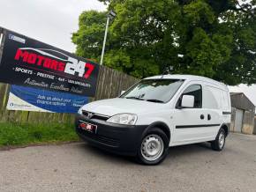
[[[159,166],[85,143],[0,151],[0,191],[256,191],[256,136],[173,147]]]

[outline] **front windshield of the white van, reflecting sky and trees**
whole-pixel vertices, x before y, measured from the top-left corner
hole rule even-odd
[[[145,79],[124,92],[120,98],[166,103],[183,82],[182,79]]]

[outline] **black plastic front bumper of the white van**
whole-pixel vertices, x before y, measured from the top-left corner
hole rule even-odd
[[[96,134],[79,128],[79,122],[97,125]],[[142,134],[147,125],[120,125],[98,119],[87,119],[82,114],[76,116],[76,131],[83,140],[106,151],[123,155],[136,155]]]

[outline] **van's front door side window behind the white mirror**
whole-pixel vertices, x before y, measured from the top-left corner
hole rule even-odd
[[[194,96],[194,108],[202,107],[202,87],[201,85],[189,85],[184,92],[181,94],[180,98],[177,100],[176,107],[181,107],[181,100],[183,95]]]

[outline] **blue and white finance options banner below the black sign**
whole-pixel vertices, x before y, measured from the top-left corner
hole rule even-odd
[[[87,102],[86,96],[11,85],[7,109],[73,114]]]

